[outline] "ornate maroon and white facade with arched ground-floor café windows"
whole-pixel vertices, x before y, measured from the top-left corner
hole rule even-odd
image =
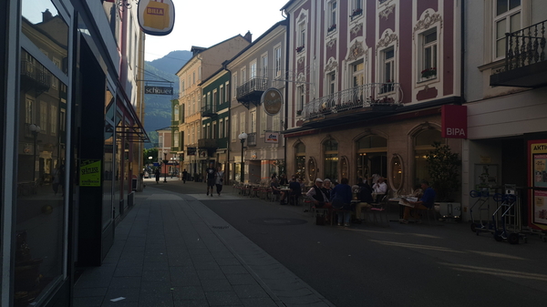
[[[287,169],[355,184],[374,174],[394,194],[428,179],[441,108],[461,104],[460,2],[289,1]]]

